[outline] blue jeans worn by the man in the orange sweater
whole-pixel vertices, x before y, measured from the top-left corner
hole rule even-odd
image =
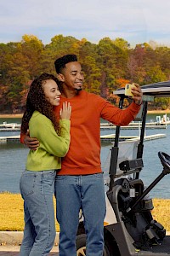
[[[82,208],[87,235],[87,256],[103,256],[105,188],[103,173],[56,176],[55,196],[60,226],[59,256],[76,256],[79,211]]]

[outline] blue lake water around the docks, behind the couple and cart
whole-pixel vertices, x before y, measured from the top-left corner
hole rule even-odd
[[[162,114],[148,114],[147,121],[155,121],[156,116]],[[170,117],[170,114],[167,114]],[[20,119],[0,119],[0,124],[6,121],[7,123],[18,123]],[[101,135],[115,133],[112,131],[101,131]],[[145,131],[146,135],[163,133],[167,137],[144,142],[144,168],[140,172],[140,178],[143,179],[144,185],[148,186],[162,172],[161,161],[158,158],[158,152],[162,151],[170,154],[170,125],[167,129],[150,129]],[[6,135],[16,135],[16,132],[5,133],[1,132],[0,137]],[[19,133],[18,133],[19,134]],[[122,130],[121,135],[139,135],[138,130]],[[105,165],[105,160],[110,152],[111,143],[102,143],[101,145],[101,163]],[[20,175],[25,169],[26,156],[28,148],[20,143],[0,144],[0,191],[9,191],[11,193],[20,193],[19,183]],[[109,170],[108,170],[109,172]],[[105,172],[105,177],[108,177],[108,172]],[[153,198],[170,198],[170,175],[163,177],[156,184],[156,187],[150,191],[150,196]]]

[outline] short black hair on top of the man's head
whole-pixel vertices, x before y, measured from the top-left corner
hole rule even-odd
[[[61,73],[62,69],[65,68],[65,64],[74,61],[77,61],[77,55],[64,55],[57,59],[54,61],[56,73]]]

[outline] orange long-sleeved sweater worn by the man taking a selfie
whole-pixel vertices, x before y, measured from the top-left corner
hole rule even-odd
[[[139,112],[140,106],[132,102],[126,109],[116,108],[100,96],[80,91],[77,96],[61,96],[59,115],[63,102],[71,102],[71,144],[62,159],[58,175],[85,175],[101,171],[100,166],[100,118],[114,125],[128,125]],[[21,141],[23,138],[21,136]],[[57,147],[57,145],[56,145]]]

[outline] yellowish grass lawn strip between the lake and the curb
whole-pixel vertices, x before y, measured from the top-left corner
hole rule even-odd
[[[153,218],[170,231],[170,199],[153,199]],[[54,201],[55,209],[55,201]],[[0,193],[0,231],[22,231],[24,229],[23,200],[20,194]],[[56,230],[59,224],[56,222]]]

